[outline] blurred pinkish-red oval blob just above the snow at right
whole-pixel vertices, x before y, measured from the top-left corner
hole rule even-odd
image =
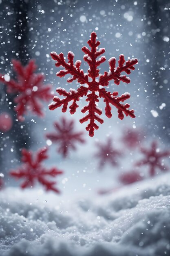
[[[121,181],[121,183],[125,185],[131,184],[143,179],[144,178],[140,175],[138,171],[129,171],[119,176],[119,180]]]

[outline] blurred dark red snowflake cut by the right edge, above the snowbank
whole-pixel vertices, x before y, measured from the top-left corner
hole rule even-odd
[[[140,160],[135,164],[135,166],[149,166],[150,176],[154,176],[156,173],[156,168],[159,168],[161,171],[167,171],[169,168],[164,165],[162,158],[170,156],[170,151],[165,150],[160,152],[157,147],[156,141],[153,141],[151,148],[141,148],[141,153],[145,155],[144,159]]]

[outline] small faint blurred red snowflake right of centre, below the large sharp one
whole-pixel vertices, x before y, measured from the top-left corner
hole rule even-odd
[[[113,148],[112,141],[109,138],[106,143],[98,143],[98,152],[95,154],[95,157],[99,158],[99,168],[103,168],[106,162],[110,162],[112,166],[117,166],[117,158],[122,155],[120,151]]]

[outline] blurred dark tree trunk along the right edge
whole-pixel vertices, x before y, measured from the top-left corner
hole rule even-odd
[[[159,114],[157,118],[150,119],[152,128],[156,134],[165,136],[169,139],[170,135],[170,101],[169,89],[166,84],[170,77],[169,70],[169,43],[164,39],[165,36],[170,38],[170,13],[165,12],[165,7],[170,7],[169,0],[147,0],[146,1],[146,58],[149,59],[147,70],[150,77],[148,79],[148,104]],[[146,74],[146,76],[148,75]],[[161,104],[166,103],[166,108],[161,109]],[[160,107],[160,108],[159,108]]]

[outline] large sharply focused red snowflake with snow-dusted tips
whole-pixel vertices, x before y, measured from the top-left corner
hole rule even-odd
[[[111,80],[114,80],[116,85],[119,85],[120,81],[123,81],[124,83],[130,83],[130,79],[126,75],[121,75],[121,73],[126,72],[127,74],[130,74],[130,70],[135,70],[134,65],[138,63],[136,58],[132,58],[126,61],[126,64],[124,65],[124,55],[121,54],[119,56],[118,67],[116,67],[115,57],[112,57],[109,59],[109,72],[104,72],[104,75],[99,74],[99,69],[97,69],[97,67],[106,61],[106,57],[102,56],[97,60],[97,57],[105,52],[105,49],[100,48],[97,50],[100,42],[96,41],[96,37],[96,33],[92,32],[91,39],[87,42],[91,47],[91,50],[85,46],[82,48],[82,51],[85,53],[84,61],[86,61],[89,65],[88,74],[84,74],[84,71],[80,70],[80,60],[77,60],[75,64],[73,63],[73,52],[68,52],[68,63],[66,63],[64,54],[62,52],[59,55],[56,52],[51,52],[51,57],[53,60],[57,61],[55,66],[64,67],[64,70],[60,70],[56,75],[62,77],[66,74],[71,74],[72,77],[68,78],[67,82],[71,83],[74,80],[77,80],[81,86],[77,90],[70,89],[70,92],[66,92],[64,88],[57,88],[57,93],[64,96],[64,99],[60,99],[55,96],[53,99],[54,102],[49,105],[49,109],[54,110],[55,108],[62,106],[62,112],[66,112],[68,103],[73,101],[69,109],[70,113],[74,114],[78,108],[77,101],[79,101],[81,97],[87,95],[86,101],[89,103],[87,106],[83,107],[81,111],[82,113],[88,112],[88,115],[79,121],[82,124],[90,120],[86,130],[89,131],[89,135],[91,137],[94,136],[94,130],[99,128],[99,126],[97,126],[95,123],[95,120],[100,124],[103,124],[104,122],[103,119],[99,117],[99,115],[102,114],[102,110],[97,107],[99,98],[103,98],[104,102],[106,103],[105,114],[108,118],[112,117],[110,104],[117,108],[119,119],[123,119],[124,114],[132,118],[135,117],[134,110],[128,110],[130,105],[128,103],[121,103],[130,98],[130,94],[128,92],[118,97],[118,92],[107,92],[104,87],[108,86],[109,81]],[[99,79],[96,80],[98,76]],[[82,86],[82,84],[84,84],[84,86]]]

